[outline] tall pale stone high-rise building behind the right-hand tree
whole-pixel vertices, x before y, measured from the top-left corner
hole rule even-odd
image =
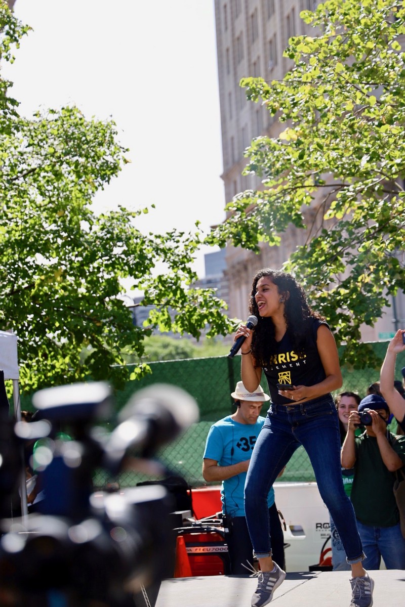
[[[239,86],[243,76],[262,76],[281,80],[293,66],[283,56],[288,39],[313,28],[299,17],[302,10],[315,10],[318,0],[215,0],[217,59],[225,200],[245,189],[260,189],[256,175],[242,176],[246,159],[243,151],[253,137],[268,134],[276,137],[281,127],[259,103],[247,101]],[[283,127],[284,128],[284,127]],[[316,216],[318,203],[307,210],[307,223]],[[226,247],[226,276],[229,283],[231,317],[247,316],[248,293],[253,274],[265,266],[280,268],[296,246],[306,240],[304,230],[291,226],[282,234],[280,246],[261,246],[254,254],[233,246]],[[375,327],[364,327],[365,341],[387,339],[396,327],[405,326],[405,297],[395,298],[393,306]]]

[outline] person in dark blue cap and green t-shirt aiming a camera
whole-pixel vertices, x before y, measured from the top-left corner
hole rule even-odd
[[[342,467],[354,467],[351,500],[366,560],[364,567],[405,569],[405,540],[393,494],[395,470],[405,464],[405,436],[389,432],[390,410],[383,396],[363,398],[349,417],[341,452]],[[362,424],[366,432],[356,437]]]

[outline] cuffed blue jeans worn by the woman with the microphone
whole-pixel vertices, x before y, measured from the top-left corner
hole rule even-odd
[[[358,563],[364,554],[352,502],[343,488],[338,412],[330,394],[299,405],[271,404],[254,445],[245,483],[245,514],[254,552],[258,558],[271,555],[267,494],[300,445],[308,453],[347,562]]]

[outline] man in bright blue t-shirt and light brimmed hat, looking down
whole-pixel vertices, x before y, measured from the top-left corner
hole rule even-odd
[[[259,385],[248,392],[241,381],[231,394],[236,412],[217,421],[209,430],[203,455],[203,477],[209,483],[220,482],[222,512],[226,517],[226,542],[231,561],[231,574],[246,574],[242,566],[253,566],[253,547],[245,518],[244,490],[251,452],[264,424],[260,416],[263,403],[270,397]],[[284,536],[274,503],[274,489],[268,493],[271,550],[276,563],[284,569]]]

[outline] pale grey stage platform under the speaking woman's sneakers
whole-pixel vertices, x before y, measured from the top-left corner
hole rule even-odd
[[[373,607],[404,607],[405,571],[370,572]],[[274,592],[276,607],[349,607],[348,571],[287,573]],[[162,582],[155,607],[250,607],[256,578],[239,575],[183,577]]]

